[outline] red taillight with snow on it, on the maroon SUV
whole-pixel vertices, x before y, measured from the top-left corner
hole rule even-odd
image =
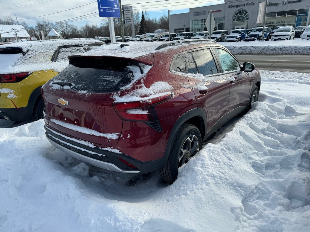
[[[123,120],[134,122],[151,122],[158,120],[155,105],[168,101],[171,94],[148,99],[147,101],[114,102],[113,107]]]

